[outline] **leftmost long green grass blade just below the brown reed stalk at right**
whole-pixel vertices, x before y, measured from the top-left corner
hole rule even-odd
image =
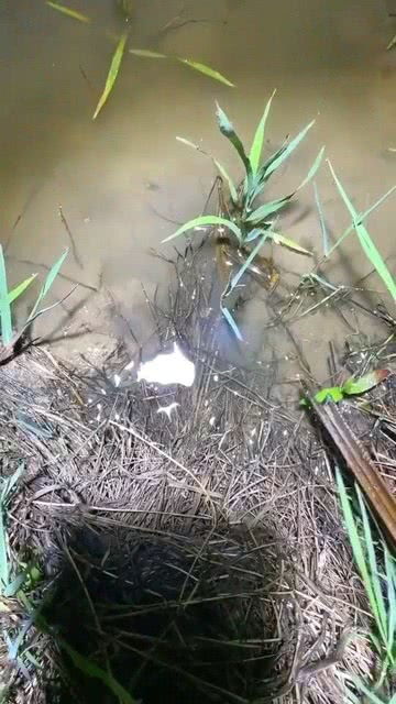
[[[377,607],[377,602],[376,602],[376,597],[375,597],[375,592],[373,590],[371,575],[370,575],[370,572],[369,572],[369,568],[367,568],[366,559],[365,559],[365,556],[364,556],[362,542],[361,542],[361,539],[359,537],[355,519],[353,517],[350,499],[348,497],[346,488],[345,488],[345,485],[344,485],[344,482],[343,482],[343,479],[342,479],[342,475],[341,475],[341,472],[340,472],[339,468],[336,469],[336,479],[337,479],[337,485],[338,485],[339,495],[340,495],[341,508],[342,508],[342,513],[343,513],[345,527],[346,527],[346,531],[348,531],[348,537],[349,537],[349,540],[350,540],[350,543],[351,543],[353,557],[354,557],[354,560],[356,562],[360,575],[361,575],[362,581],[363,581],[363,585],[364,585],[364,588],[365,588],[365,592],[366,592],[366,595],[367,595],[367,598],[369,598],[369,602],[370,602],[370,606],[371,606],[371,609],[372,609],[373,618],[375,620],[375,624],[376,624],[377,628],[381,629],[381,617],[380,617],[380,614],[378,614],[378,607]],[[381,636],[383,637],[383,634],[381,634]],[[386,638],[386,635],[385,635],[385,638]]]

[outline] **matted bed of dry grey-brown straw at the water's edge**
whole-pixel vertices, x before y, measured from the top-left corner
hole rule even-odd
[[[152,306],[158,348],[177,340],[196,363],[191,388],[138,383],[123,349],[101,369],[35,349],[0,370],[2,474],[24,464],[11,556],[37,565],[28,597],[46,624],[2,601],[32,656],[1,644],[11,701],[117,701],[65,642],[144,704],[337,704],[348,673],[370,676],[328,451],[262,369],[224,361],[197,257]]]

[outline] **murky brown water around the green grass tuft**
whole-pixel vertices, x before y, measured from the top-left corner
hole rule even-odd
[[[112,37],[124,19],[116,0],[80,0],[73,7],[77,4],[91,18],[90,24],[38,0],[6,0],[0,11],[1,240],[14,283],[32,271],[42,272],[40,265],[51,264],[70,245],[72,233],[74,246],[64,273],[88,288],[76,292],[43,327],[51,329],[56,320],[61,338],[72,338],[68,352],[96,344],[109,331],[103,312],[109,295],[103,298],[91,288],[110,292],[127,321],[144,337],[141,282],[151,293],[167,276],[150,250],[158,250],[173,231],[169,221],[183,222],[200,212],[213,177],[210,162],[177,143],[176,135],[201,142],[238,173],[216,129],[215,100],[249,139],[276,88],[268,150],[317,119],[270,194],[283,195],[295,186],[321,144],[359,208],[369,207],[396,183],[396,155],[388,151],[396,146],[396,51],[385,51],[396,30],[385,1],[134,0],[130,46],[205,62],[237,88],[182,65],[128,54],[96,122],[91,116],[113,51]],[[337,237],[348,216],[326,166],[317,180],[330,235]],[[284,228],[320,255],[312,204],[307,188],[298,208],[285,217]],[[391,198],[370,220],[393,271],[394,213]],[[285,251],[274,251],[274,257],[295,273],[310,268],[305,257]],[[353,238],[327,267],[332,282],[351,286],[369,271]],[[369,280],[381,290],[375,277]],[[54,297],[65,295],[69,286],[59,280]],[[29,298],[20,316],[28,305]],[[256,324],[263,312],[253,306],[246,316],[249,336],[250,322]],[[305,319],[298,332],[307,353],[315,342],[324,354],[330,338],[353,333],[355,324],[340,328],[339,318],[329,314]],[[371,322],[364,324],[371,334]],[[280,341],[272,343],[282,348]],[[316,352],[314,366],[318,358]]]

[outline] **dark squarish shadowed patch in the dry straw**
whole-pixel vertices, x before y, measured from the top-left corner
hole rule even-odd
[[[273,690],[288,650],[271,597],[273,548],[266,564],[248,534],[90,527],[62,543],[43,609],[57,653],[47,702],[119,703],[118,684],[144,704],[252,701]]]

